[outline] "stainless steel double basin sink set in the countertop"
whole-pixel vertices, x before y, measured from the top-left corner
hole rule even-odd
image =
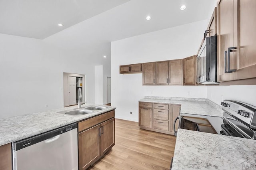
[[[86,115],[88,113],[93,113],[93,112],[100,111],[100,110],[107,109],[107,108],[108,107],[106,107],[106,106],[81,107],[80,109],[76,109],[76,110],[72,110],[72,111],[62,111],[62,112],[59,112],[59,113],[64,112],[65,114],[73,115],[73,116]]]

